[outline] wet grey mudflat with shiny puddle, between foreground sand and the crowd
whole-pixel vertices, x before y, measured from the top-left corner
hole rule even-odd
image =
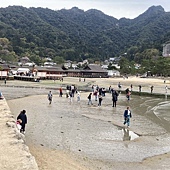
[[[30,90],[29,94],[48,93],[32,92]],[[27,93],[20,89],[20,96]],[[10,95],[9,91],[3,94],[7,98]],[[8,105],[15,117],[20,110],[27,110],[28,144],[69,150],[93,159],[125,162],[142,161],[170,151],[169,101],[133,95],[127,101],[120,94],[118,105],[113,108],[111,96],[106,94],[102,106],[98,107],[95,101],[92,106],[87,105],[87,94],[81,94],[80,103],[76,98],[70,103],[65,97],[54,95],[49,105],[46,95],[34,95],[8,100]],[[123,112],[127,105],[133,116],[129,130],[123,128]]]

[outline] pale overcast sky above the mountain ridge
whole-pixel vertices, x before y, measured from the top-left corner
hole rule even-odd
[[[20,5],[24,7],[43,7],[53,10],[78,7],[84,11],[98,9],[117,19],[135,18],[149,7],[161,5],[170,12],[170,0],[1,0],[0,7]]]

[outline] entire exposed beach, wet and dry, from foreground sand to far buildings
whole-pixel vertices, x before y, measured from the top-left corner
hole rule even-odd
[[[10,81],[8,87],[1,85],[12,114],[16,116],[23,108],[28,112],[26,144],[40,170],[170,169],[168,128],[157,123],[153,116],[142,115],[151,111],[148,111],[149,107],[140,107],[146,101],[150,102],[150,107],[155,107],[168,99],[154,99],[152,96],[145,99],[132,95],[128,103],[124,94],[120,94],[117,108],[112,108],[111,96],[106,94],[102,106],[98,107],[95,102],[93,106],[87,105],[89,92],[81,92],[80,103],[74,98],[70,104],[65,96],[59,98],[59,91],[55,89],[64,88],[67,84],[80,87],[95,84],[105,88],[111,85],[118,89],[118,82],[122,84],[122,90],[133,84],[134,91],[138,91],[141,85],[142,91],[148,93],[151,85],[154,86],[153,93],[161,94],[165,94],[165,85],[170,86],[169,80],[164,83],[164,79],[136,77],[86,79],[85,82],[79,82],[78,78],[65,78],[64,82],[51,80],[39,84]],[[54,94],[51,106],[47,101],[49,89]],[[133,111],[128,131],[122,124],[122,114],[127,105]],[[136,107],[140,108],[139,113]],[[125,136],[127,132],[128,136]]]

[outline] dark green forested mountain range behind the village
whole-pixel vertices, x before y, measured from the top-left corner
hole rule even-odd
[[[162,44],[170,40],[170,13],[152,6],[135,19],[118,20],[95,9],[9,6],[0,8],[4,37],[19,57],[105,60],[132,47],[136,52],[154,48],[161,54]]]

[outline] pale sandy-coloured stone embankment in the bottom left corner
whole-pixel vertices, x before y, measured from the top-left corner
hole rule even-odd
[[[0,100],[0,170],[38,170],[5,99]]]

